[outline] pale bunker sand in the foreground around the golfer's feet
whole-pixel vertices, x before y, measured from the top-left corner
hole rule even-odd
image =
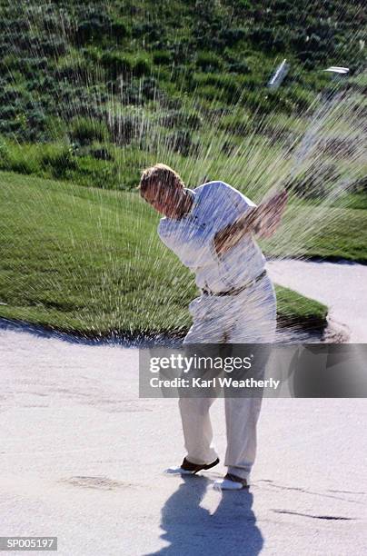
[[[365,553],[365,400],[263,400],[252,487],[221,495],[222,466],[164,476],[177,404],[139,399],[137,366],[136,348],[0,326],[1,535],[57,536],[63,556]],[[222,400],[212,414],[223,456]]]

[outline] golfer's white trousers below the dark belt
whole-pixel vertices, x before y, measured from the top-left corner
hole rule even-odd
[[[266,275],[234,296],[201,295],[189,306],[193,325],[183,343],[272,343],[276,327],[273,283]],[[187,459],[210,463],[217,457],[209,410],[213,398],[182,397],[179,408]],[[262,398],[225,398],[228,472],[248,479],[256,455],[256,424]]]

